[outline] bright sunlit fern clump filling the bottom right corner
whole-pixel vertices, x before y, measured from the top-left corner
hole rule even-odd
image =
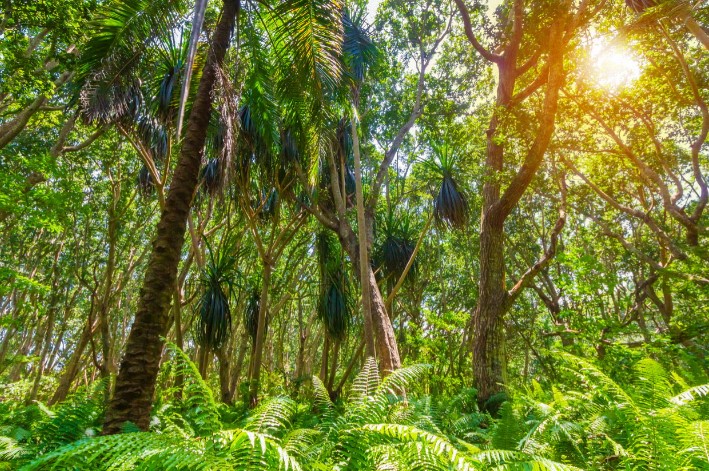
[[[621,385],[591,362],[562,354],[564,369],[582,389],[538,384],[520,398],[531,429],[518,449],[581,467],[605,469],[703,469],[706,455],[702,409],[706,386],[684,388],[651,359],[639,361],[632,384]],[[506,404],[507,406],[507,404]],[[706,412],[704,412],[705,414]]]

